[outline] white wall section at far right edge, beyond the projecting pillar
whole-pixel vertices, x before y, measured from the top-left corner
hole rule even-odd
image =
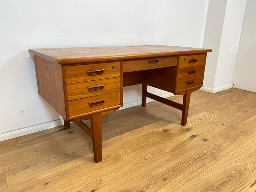
[[[236,60],[234,88],[256,92],[256,1],[247,0]]]

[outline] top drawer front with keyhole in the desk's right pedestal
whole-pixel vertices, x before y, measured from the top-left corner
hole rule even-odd
[[[206,54],[180,56],[179,68],[205,65]]]

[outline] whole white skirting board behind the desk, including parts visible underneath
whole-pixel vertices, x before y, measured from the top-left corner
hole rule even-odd
[[[167,97],[170,97],[170,96],[173,96],[173,95],[174,94],[172,94],[172,93],[166,93],[166,94],[162,94],[162,95],[159,95],[159,96],[167,98]],[[150,98],[147,98],[147,103],[152,102],[152,101],[154,101],[154,100],[152,100]],[[133,101],[133,102],[124,103],[123,107],[121,107],[119,110],[122,110],[122,109],[125,109],[125,108],[130,108],[130,107],[137,106],[137,105],[140,105],[140,104],[141,104],[141,100],[136,100],[136,101]],[[27,135],[27,134],[31,134],[31,133],[39,132],[39,131],[42,131],[42,130],[58,127],[58,126],[61,126],[61,125],[64,125],[63,119],[58,119],[58,120],[51,121],[51,122],[46,122],[46,123],[42,123],[42,124],[38,124],[38,125],[26,127],[26,128],[21,128],[21,129],[18,129],[18,130],[14,130],[14,131],[10,131],[10,132],[0,134],[0,141],[4,141],[4,140],[24,136],[24,135]]]

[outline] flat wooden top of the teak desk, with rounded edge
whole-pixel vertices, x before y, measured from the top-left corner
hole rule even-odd
[[[28,51],[58,64],[100,62],[108,60],[124,60],[212,52],[211,49],[165,45],[46,48],[29,49]]]

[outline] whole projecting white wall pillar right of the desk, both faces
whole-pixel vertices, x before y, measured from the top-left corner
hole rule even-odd
[[[210,0],[204,46],[211,47],[213,54],[206,60],[202,90],[214,93],[233,87],[245,8],[246,0]]]

